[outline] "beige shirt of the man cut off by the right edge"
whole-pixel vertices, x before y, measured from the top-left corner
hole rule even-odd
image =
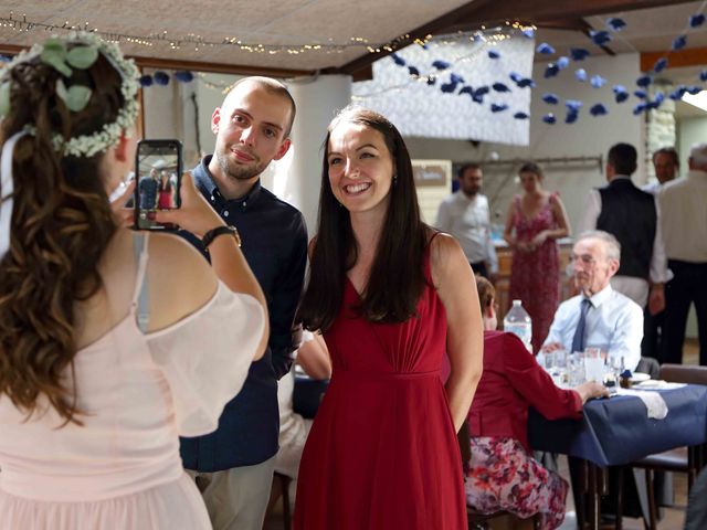
[[[692,170],[666,183],[658,203],[667,257],[707,263],[707,171]]]

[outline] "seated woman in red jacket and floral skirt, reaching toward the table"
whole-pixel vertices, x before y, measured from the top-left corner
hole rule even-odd
[[[495,290],[476,279],[484,317],[484,373],[468,413],[472,459],[466,501],[474,510],[504,510],[520,518],[540,512],[544,530],[564,519],[568,484],[532,458],[527,438],[528,409],[549,420],[580,417],[590,398],[606,395],[595,383],[558,389],[518,337],[496,331]]]

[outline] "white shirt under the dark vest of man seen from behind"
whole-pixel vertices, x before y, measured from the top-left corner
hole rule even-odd
[[[616,176],[614,179],[631,179],[625,176]],[[601,213],[601,194],[599,190],[591,190],[584,216],[580,223],[579,234],[588,230],[597,230],[597,220]],[[661,208],[658,201],[655,201],[655,237],[653,240],[653,255],[651,256],[651,282],[654,284],[665,284],[673,278],[673,274],[667,268],[667,257],[665,254],[665,244],[663,231],[661,229]],[[611,278],[611,285],[616,290],[629,296],[641,307],[645,307],[648,300],[648,283],[643,278],[634,276],[614,276]]]

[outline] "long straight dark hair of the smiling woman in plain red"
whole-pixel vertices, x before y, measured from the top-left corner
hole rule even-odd
[[[415,315],[426,284],[423,255],[431,231],[421,220],[412,165],[402,136],[372,110],[348,107],[331,120],[324,142],[317,239],[298,319],[309,330],[327,330],[339,312],[346,273],[358,259],[351,218],[334,197],[328,174],[329,137],[342,123],[380,132],[393,159],[397,177],[376,257],[357,311],[373,322],[401,322]]]

